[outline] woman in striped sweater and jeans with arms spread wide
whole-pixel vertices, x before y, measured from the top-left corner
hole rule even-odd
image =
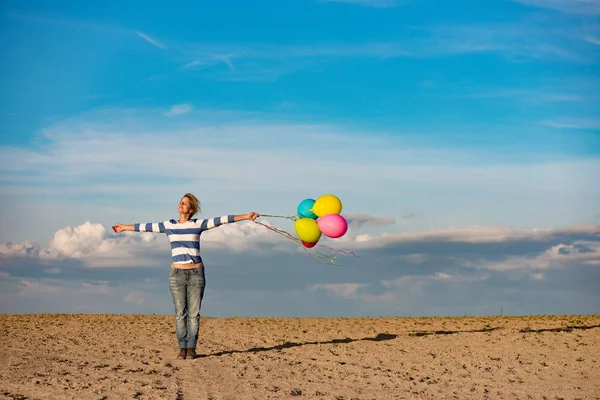
[[[171,272],[169,286],[175,305],[175,326],[179,342],[178,359],[195,358],[196,342],[200,330],[200,304],[204,297],[204,264],[200,257],[200,235],[202,232],[232,222],[251,220],[259,215],[255,212],[241,215],[226,215],[211,219],[192,219],[200,211],[198,199],[186,193],[177,207],[179,220],[148,224],[116,224],[115,232],[160,232],[166,233],[171,242]]]

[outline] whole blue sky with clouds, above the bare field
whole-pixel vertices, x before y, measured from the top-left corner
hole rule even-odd
[[[338,195],[337,267],[203,238],[206,315],[600,310],[600,6],[4,1],[0,312],[171,313],[166,238]],[[285,221],[262,219],[288,231]]]

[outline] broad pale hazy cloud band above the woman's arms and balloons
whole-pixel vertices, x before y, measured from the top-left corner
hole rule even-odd
[[[189,191],[197,191],[207,217],[253,210],[291,215],[301,199],[332,192],[344,202],[344,213],[356,217],[350,233],[369,246],[369,235],[382,228],[422,235],[433,226],[500,220],[560,226],[597,213],[595,159],[536,161],[535,154],[523,153],[505,160],[502,152],[411,144],[406,135],[257,120],[251,113],[199,110],[191,119],[167,120],[156,109],[103,109],[42,130],[39,148],[0,148],[0,240],[42,242],[87,220],[110,226],[128,222],[121,221],[127,216],[172,218],[175,202]],[[299,171],[310,180],[299,184]],[[35,202],[36,196],[44,202]],[[414,214],[406,210],[417,207],[426,217],[408,219]],[[531,207],[538,212],[528,212]],[[32,208],[40,210],[35,218]],[[38,229],[27,232],[32,224]]]

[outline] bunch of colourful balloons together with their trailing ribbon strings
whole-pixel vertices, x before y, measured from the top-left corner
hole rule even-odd
[[[350,254],[358,257],[352,251],[337,250],[323,244],[317,244],[322,235],[337,239],[346,234],[348,231],[348,222],[340,215],[341,212],[342,202],[340,199],[332,194],[326,194],[319,197],[317,200],[302,200],[300,204],[298,204],[296,215],[281,216],[261,213],[261,216],[263,217],[284,218],[294,221],[294,228],[298,237],[262,222],[254,222],[284,236],[298,245],[302,245],[304,251],[313,256],[318,262],[323,261],[335,265],[334,258],[336,258],[336,256],[329,256],[322,252],[310,249],[319,246],[320,248],[326,248],[333,252],[346,255]]]

